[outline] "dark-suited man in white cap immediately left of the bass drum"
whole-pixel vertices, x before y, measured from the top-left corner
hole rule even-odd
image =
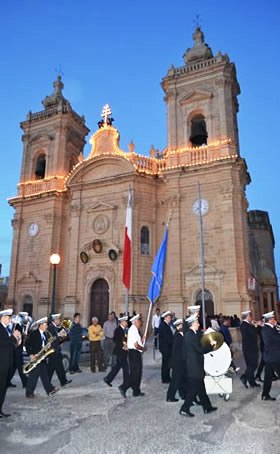
[[[194,414],[190,412],[190,407],[198,395],[199,401],[203,406],[204,413],[211,413],[217,410],[213,407],[209,397],[206,394],[204,384],[204,353],[208,353],[216,345],[216,341],[212,340],[209,348],[203,350],[200,343],[200,335],[198,333],[199,322],[197,314],[191,315],[187,318],[186,322],[189,329],[184,335],[183,355],[187,363],[187,377],[188,389],[185,397],[185,402],[180,409],[180,415],[193,417]]]

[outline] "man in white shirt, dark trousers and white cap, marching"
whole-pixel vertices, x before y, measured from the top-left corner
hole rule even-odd
[[[135,315],[130,319],[132,323],[127,334],[127,348],[128,348],[128,360],[130,374],[128,380],[126,380],[121,386],[119,386],[120,393],[123,397],[126,397],[126,391],[128,388],[132,388],[133,396],[144,396],[141,392],[140,384],[142,379],[142,352],[145,350],[143,342],[139,333],[139,329],[142,326],[142,320],[140,314]]]

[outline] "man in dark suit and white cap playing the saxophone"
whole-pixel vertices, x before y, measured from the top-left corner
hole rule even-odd
[[[26,351],[30,356],[31,361],[36,360],[36,355],[47,344],[46,330],[48,328],[48,318],[40,318],[40,320],[38,320],[36,324],[38,328],[31,331],[25,342]],[[32,399],[35,397],[34,391],[39,377],[41,378],[44,389],[49,396],[55,394],[58,391],[58,388],[55,388],[50,382],[47,369],[47,361],[43,360],[28,374],[26,385],[27,398]]]

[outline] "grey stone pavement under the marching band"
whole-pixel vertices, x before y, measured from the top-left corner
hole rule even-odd
[[[242,358],[236,363],[242,363]],[[18,376],[9,389],[4,411],[13,416],[0,421],[0,453],[7,454],[279,454],[280,383],[271,394],[276,402],[261,401],[260,388],[245,389],[238,376],[228,402],[211,396],[218,411],[204,415],[192,407],[195,418],[179,415],[179,403],[167,403],[167,385],[160,383],[160,354],[144,354],[144,397],[123,399],[104,382],[105,373],[71,376],[73,382],[53,397],[41,384],[37,398],[27,400]],[[54,380],[54,384],[57,384]]]

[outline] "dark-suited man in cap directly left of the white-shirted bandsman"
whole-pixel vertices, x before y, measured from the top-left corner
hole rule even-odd
[[[127,325],[128,316],[124,315],[119,318],[119,326],[114,331],[114,350],[113,354],[116,355],[117,362],[112,366],[109,374],[104,377],[104,382],[108,386],[112,386],[112,381],[115,376],[119,373],[120,369],[123,371],[123,383],[128,383],[129,371],[128,371],[128,358],[127,358]]]

